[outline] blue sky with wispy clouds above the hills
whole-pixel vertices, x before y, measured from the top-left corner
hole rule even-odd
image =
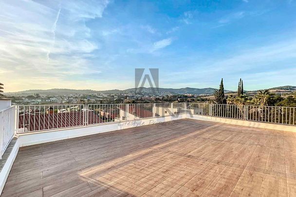
[[[296,86],[296,0],[2,0],[5,91]]]

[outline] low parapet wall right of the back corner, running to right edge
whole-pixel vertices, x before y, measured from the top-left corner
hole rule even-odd
[[[231,125],[251,126],[251,127],[257,127],[257,128],[296,132],[296,126],[292,126],[292,125],[280,125],[280,124],[274,124],[274,123],[263,123],[263,122],[256,122],[256,121],[245,121],[245,120],[237,120],[237,119],[231,119],[231,118],[210,117],[210,116],[192,115],[192,114],[186,114],[186,118],[194,119],[194,120],[211,121],[211,122],[217,122],[217,123],[226,123]]]

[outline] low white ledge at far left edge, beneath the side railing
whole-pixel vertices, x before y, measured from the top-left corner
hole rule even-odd
[[[19,152],[19,139],[14,138],[8,145],[7,149],[5,150],[4,154],[6,154],[7,157],[3,158],[3,160],[1,161],[3,162],[3,165],[1,166],[1,169],[0,169],[0,195],[6,183],[7,177],[10,173],[12,164],[18,155],[18,152]]]

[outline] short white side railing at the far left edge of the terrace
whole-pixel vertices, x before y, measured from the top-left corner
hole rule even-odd
[[[0,111],[0,159],[15,134],[16,107]]]

